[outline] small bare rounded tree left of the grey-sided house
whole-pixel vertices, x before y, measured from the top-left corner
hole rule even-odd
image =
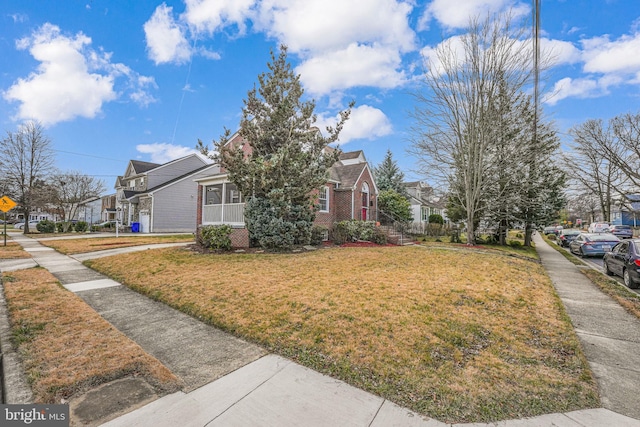
[[[76,217],[80,203],[105,191],[104,181],[79,171],[56,173],[49,179],[49,185],[53,189],[52,203],[65,222],[65,232],[69,229],[68,222]]]

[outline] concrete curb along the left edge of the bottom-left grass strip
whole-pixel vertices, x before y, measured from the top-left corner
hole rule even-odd
[[[4,297],[4,283],[0,275],[0,370],[2,371],[1,403],[33,403],[33,393],[27,383],[22,361],[11,344],[11,326],[7,300]]]

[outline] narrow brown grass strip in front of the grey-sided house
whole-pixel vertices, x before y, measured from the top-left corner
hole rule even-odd
[[[45,240],[41,244],[54,248],[60,253],[71,255],[85,252],[101,251],[105,249],[126,248],[157,243],[193,242],[192,234],[166,235],[166,236],[119,236],[94,237],[63,240]]]

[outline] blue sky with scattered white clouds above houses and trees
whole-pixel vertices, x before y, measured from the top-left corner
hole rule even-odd
[[[470,15],[518,0],[0,0],[0,129],[37,119],[61,170],[104,179],[131,159],[164,163],[237,130],[269,50],[289,46],[321,124],[350,100],[341,136],[373,165],[387,149],[408,179],[411,92],[424,59]],[[542,0],[555,64],[545,113],[562,138],[587,119],[638,112],[640,3]]]

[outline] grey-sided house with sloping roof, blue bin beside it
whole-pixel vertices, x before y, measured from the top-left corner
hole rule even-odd
[[[219,168],[199,154],[164,164],[129,161],[116,180],[116,210],[124,226],[142,233],[196,231],[194,179]]]

